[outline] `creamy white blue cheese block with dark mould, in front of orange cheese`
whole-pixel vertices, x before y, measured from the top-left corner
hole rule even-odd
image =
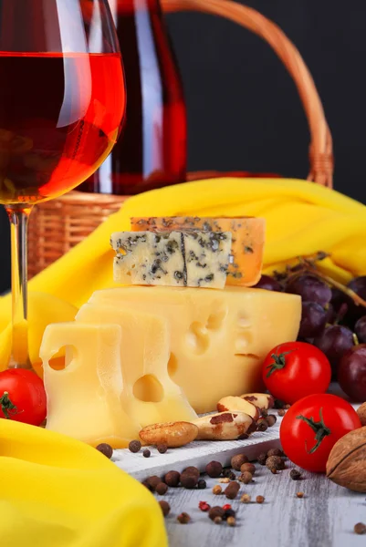
[[[114,281],[120,284],[225,287],[230,232],[117,232]]]

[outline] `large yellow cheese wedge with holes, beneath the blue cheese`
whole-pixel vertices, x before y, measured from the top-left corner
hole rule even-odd
[[[167,321],[168,374],[194,410],[203,413],[215,410],[221,397],[261,391],[264,357],[277,344],[296,340],[301,298],[246,287],[125,286],[94,293],[77,320],[117,323],[123,329],[121,310],[150,312]],[[133,328],[131,336],[137,346],[145,344]],[[152,374],[152,366],[149,370]]]

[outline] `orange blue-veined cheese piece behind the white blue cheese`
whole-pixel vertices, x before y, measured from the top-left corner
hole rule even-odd
[[[207,217],[142,217],[131,219],[133,232],[171,232],[204,230],[231,232],[232,259],[228,267],[228,285],[253,286],[260,278],[265,245],[265,219]]]

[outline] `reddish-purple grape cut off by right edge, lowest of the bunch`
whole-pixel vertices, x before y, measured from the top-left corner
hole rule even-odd
[[[352,401],[366,401],[366,344],[351,347],[342,357],[338,381]]]

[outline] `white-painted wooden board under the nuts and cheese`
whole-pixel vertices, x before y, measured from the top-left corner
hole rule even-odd
[[[274,414],[277,414],[276,410]],[[256,431],[246,440],[198,440],[180,449],[168,449],[165,454],[160,454],[154,447],[148,447],[152,452],[150,458],[142,456],[142,449],[137,454],[132,454],[129,449],[114,450],[112,460],[137,480],[144,480],[151,475],[162,477],[170,470],[182,472],[191,465],[203,472],[207,463],[213,459],[220,461],[223,466],[229,466],[235,454],[244,452],[248,459],[256,459],[260,452],[280,448],[281,419],[277,417],[277,423],[272,428],[264,432]]]

